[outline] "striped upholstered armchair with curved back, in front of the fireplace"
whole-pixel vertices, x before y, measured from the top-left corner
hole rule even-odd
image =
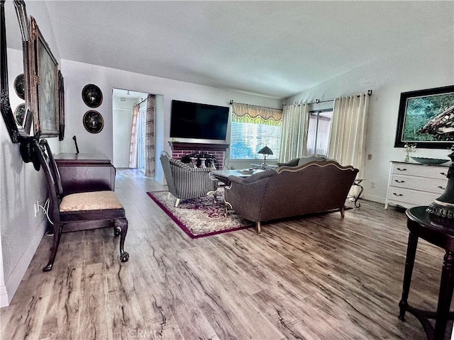
[[[167,152],[161,152],[161,164],[170,194],[177,198],[175,207],[180,200],[206,196],[207,193],[216,191],[218,181],[210,178],[210,169],[193,168],[177,159],[169,157]]]

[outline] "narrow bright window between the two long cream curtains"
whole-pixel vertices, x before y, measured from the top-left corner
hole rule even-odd
[[[328,156],[329,136],[333,111],[311,112],[307,131],[307,155],[324,154]]]

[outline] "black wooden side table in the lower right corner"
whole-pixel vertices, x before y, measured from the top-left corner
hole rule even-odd
[[[454,220],[434,217],[426,212],[426,208],[421,206],[406,210],[407,227],[410,232],[406,249],[402,298],[399,302],[399,319],[404,320],[405,312],[408,311],[419,319],[428,339],[442,340],[445,338],[448,320],[454,319],[454,312],[449,312],[454,288]],[[419,310],[411,307],[407,302],[419,237],[445,249],[436,312]],[[435,329],[428,319],[436,320]]]

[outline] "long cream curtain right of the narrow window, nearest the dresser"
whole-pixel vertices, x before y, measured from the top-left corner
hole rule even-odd
[[[336,159],[341,165],[358,168],[357,179],[364,178],[368,108],[367,94],[334,100],[328,157]]]

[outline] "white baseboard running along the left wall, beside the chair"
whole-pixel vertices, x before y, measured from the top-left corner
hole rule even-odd
[[[35,234],[33,235],[31,242],[28,244],[26,251],[24,251],[21,259],[19,259],[17,263],[16,268],[14,268],[13,272],[11,273],[11,276],[9,276],[9,278],[6,278],[5,285],[0,286],[0,307],[9,306],[11,300],[13,300],[13,296],[14,294],[16,294],[16,291],[21,284],[21,280],[25,275],[27,268],[31,263],[31,260],[33,259],[33,255],[35,255],[36,249],[38,249],[41,239],[43,239],[43,235],[47,227],[47,222],[48,220],[44,219],[40,223],[40,226],[38,227],[38,229],[36,229]]]

